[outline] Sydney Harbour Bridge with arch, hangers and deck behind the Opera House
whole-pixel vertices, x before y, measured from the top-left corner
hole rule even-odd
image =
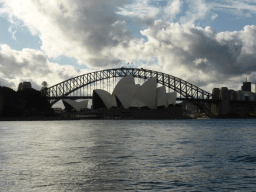
[[[177,92],[177,100],[189,101],[210,118],[215,117],[211,103],[216,101],[211,93],[178,77],[143,68],[122,67],[83,74],[44,89],[42,94],[48,97],[51,105],[61,99],[91,99],[94,89],[111,92],[117,81],[127,75],[133,75],[137,83],[156,77],[159,85],[165,86],[169,91]]]

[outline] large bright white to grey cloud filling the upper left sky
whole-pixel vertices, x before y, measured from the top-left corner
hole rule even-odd
[[[114,9],[127,1],[3,1],[10,18],[22,20],[33,35],[42,40],[41,49],[49,56],[74,57],[78,63],[102,68],[120,63],[104,50],[126,46],[130,33]],[[115,6],[114,6],[115,5]]]

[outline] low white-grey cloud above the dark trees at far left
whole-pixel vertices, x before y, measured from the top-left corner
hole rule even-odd
[[[43,81],[51,86],[91,71],[49,62],[42,51],[34,49],[17,51],[5,44],[0,44],[0,69],[1,85],[14,90],[23,81],[30,81],[33,88],[40,90]]]

